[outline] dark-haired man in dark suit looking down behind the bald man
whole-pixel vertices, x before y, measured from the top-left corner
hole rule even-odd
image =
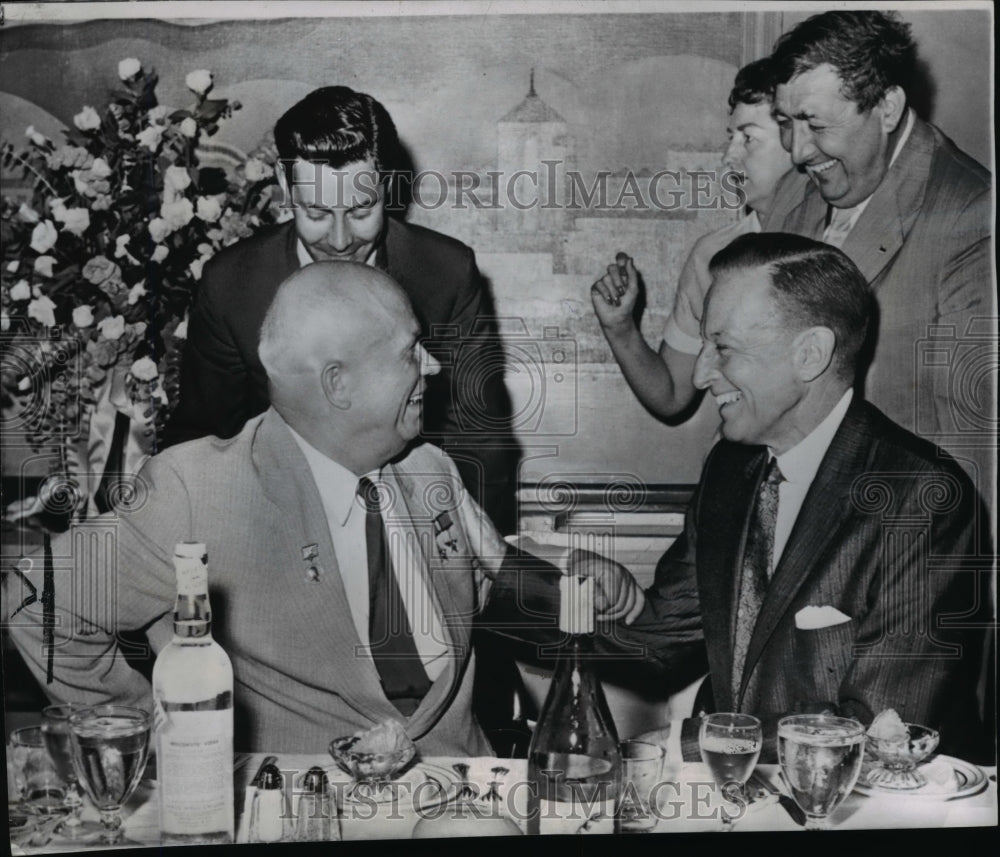
[[[401,149],[391,117],[370,95],[318,89],[287,111],[274,133],[278,180],[294,219],[205,266],[167,445],[231,437],[267,408],[258,336],[290,274],[320,260],[372,265],[402,286],[424,345],[442,363],[428,392],[423,437],[449,452],[496,526],[512,532],[516,443],[492,301],[472,250],[386,216]]]

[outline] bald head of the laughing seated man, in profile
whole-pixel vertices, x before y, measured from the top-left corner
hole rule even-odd
[[[394,280],[354,262],[314,262],[278,288],[260,332],[271,404],[328,458],[362,475],[420,433],[437,361]]]

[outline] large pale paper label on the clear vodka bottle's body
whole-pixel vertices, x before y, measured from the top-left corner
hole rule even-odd
[[[157,734],[160,830],[233,836],[233,711],[171,710]]]

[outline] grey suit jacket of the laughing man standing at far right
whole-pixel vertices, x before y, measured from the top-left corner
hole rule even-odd
[[[865,398],[952,453],[984,497],[996,466],[995,426],[983,421],[996,403],[976,380],[997,359],[992,185],[985,167],[914,118],[842,247],[879,308]],[[822,240],[826,212],[816,186],[792,172],[763,227]]]

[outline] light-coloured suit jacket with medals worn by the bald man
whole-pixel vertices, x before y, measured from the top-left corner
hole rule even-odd
[[[471,710],[469,635],[506,545],[436,447],[416,447],[383,476],[398,488],[387,514],[407,523],[426,560],[449,650],[406,730],[424,753],[489,753]],[[138,486],[130,510],[53,540],[50,684],[40,600],[10,619],[30,586],[42,591],[41,562],[4,575],[11,636],[53,699],[151,708],[149,683],[126,663],[115,632],[146,628],[154,651],[169,641],[173,548],[187,540],[208,548],[213,634],[233,662],[238,749],[324,752],[335,737],[402,719],[361,648],[319,493],[275,411],[230,440],[203,438],[150,459]]]

